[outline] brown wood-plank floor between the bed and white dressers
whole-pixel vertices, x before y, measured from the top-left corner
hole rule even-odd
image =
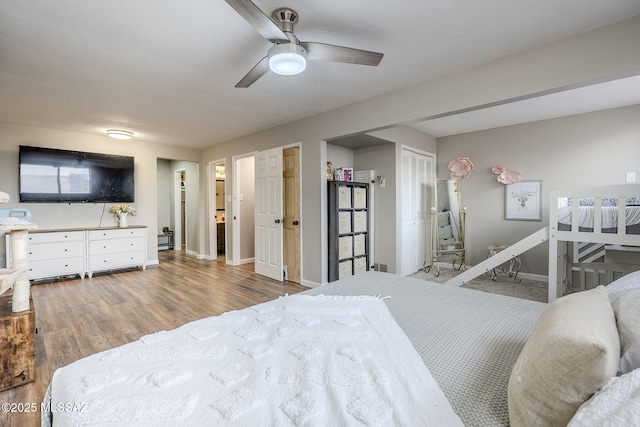
[[[36,413],[0,411],[0,426],[39,426],[53,372],[84,356],[143,335],[269,301],[307,288],[253,273],[253,264],[198,260],[161,251],[160,265],[92,278],[33,285],[36,381],[0,392],[0,403],[37,405]],[[17,406],[17,405],[14,405]]]

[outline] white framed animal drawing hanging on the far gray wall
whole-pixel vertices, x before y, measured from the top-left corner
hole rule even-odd
[[[542,220],[542,181],[521,181],[505,186],[505,219]]]

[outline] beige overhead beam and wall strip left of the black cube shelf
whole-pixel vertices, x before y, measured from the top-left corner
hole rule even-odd
[[[640,72],[639,24],[640,17],[636,17],[276,126],[215,145],[205,150],[204,158],[213,161],[276,146],[301,144],[302,282],[310,285],[326,283],[326,141],[615,76],[637,74]]]

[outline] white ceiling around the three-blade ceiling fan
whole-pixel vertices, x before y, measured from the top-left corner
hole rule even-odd
[[[638,0],[255,3],[296,9],[303,41],[385,56],[236,89],[270,43],[223,0],[2,0],[0,121],[202,148],[640,15]]]

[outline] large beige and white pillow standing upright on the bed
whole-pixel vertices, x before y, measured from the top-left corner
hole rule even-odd
[[[507,389],[512,427],[565,426],[616,374],[620,340],[603,286],[549,304],[518,356]]]

